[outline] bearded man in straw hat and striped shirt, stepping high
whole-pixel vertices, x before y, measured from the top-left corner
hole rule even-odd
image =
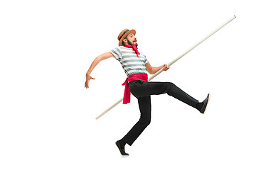
[[[122,30],[117,38],[119,40],[119,47],[96,57],[86,73],[85,81],[85,88],[87,89],[89,88],[90,79],[95,79],[90,76],[92,69],[102,60],[114,57],[122,64],[124,72],[127,74],[127,79],[124,81],[124,84],[122,84],[125,85],[123,103],[129,103],[130,93],[132,93],[138,99],[141,113],[141,117],[134,127],[129,130],[127,135],[116,142],[119,152],[125,156],[129,154],[125,152],[124,146],[126,144],[131,146],[151,121],[151,95],[168,94],[196,108],[203,114],[206,111],[206,106],[210,98],[210,94],[208,94],[203,102],[198,102],[198,100],[189,96],[171,82],[149,82],[147,72],[149,72],[149,74],[155,74],[160,69],[167,71],[169,67],[167,67],[166,64],[160,67],[151,67],[151,64],[149,64],[146,59],[146,55],[138,51],[135,34],[135,30]]]

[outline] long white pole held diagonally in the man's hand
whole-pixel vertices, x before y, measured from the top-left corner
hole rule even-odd
[[[174,59],[172,62],[169,62],[169,64],[167,64],[167,66],[171,66],[172,64],[174,64],[174,62],[178,61],[181,59],[181,57],[183,57],[184,55],[188,54],[188,52],[190,52],[191,50],[193,50],[195,47],[197,47],[198,45],[200,45],[203,41],[207,40],[211,35],[213,35],[214,33],[216,33],[218,30],[220,30],[221,28],[223,28],[225,25],[227,25],[228,23],[230,23],[231,21],[233,21],[233,19],[235,19],[236,17],[233,16],[230,19],[228,19],[228,21],[226,21],[225,23],[223,23],[221,26],[219,26],[218,28],[216,28],[215,30],[213,30],[213,32],[211,32],[210,34],[208,34],[205,38],[203,38],[201,41],[197,42],[196,45],[193,45],[191,48],[189,48],[188,50],[186,50],[186,52],[183,52],[183,54],[179,55],[178,57],[176,57],[176,59]],[[154,74],[153,76],[149,77],[149,81],[151,79],[154,79],[154,77],[158,76],[161,72],[163,72],[163,69],[161,69],[159,72],[156,72],[156,74]],[[108,111],[110,111],[112,108],[114,108],[114,106],[117,106],[119,103],[122,102],[121,98],[119,101],[117,101],[116,103],[114,103],[112,106],[110,106],[110,108],[107,108],[106,111],[104,111],[103,113],[101,113],[100,115],[98,115],[96,117],[96,119],[100,118],[102,115],[104,115],[105,113],[107,113]]]

